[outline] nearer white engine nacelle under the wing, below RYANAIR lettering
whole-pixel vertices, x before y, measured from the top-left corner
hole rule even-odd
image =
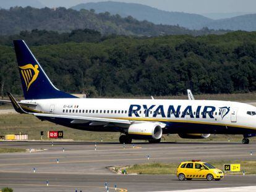
[[[158,140],[163,130],[160,123],[134,123],[128,128],[128,134],[137,140]]]

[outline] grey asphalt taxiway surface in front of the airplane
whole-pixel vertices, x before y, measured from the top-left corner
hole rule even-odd
[[[126,145],[117,143],[1,142],[1,148],[47,149],[38,152],[0,154],[0,188],[15,191],[172,191],[255,185],[255,175],[226,176],[220,182],[180,182],[175,175],[117,175],[106,167],[144,162],[177,162],[190,159],[256,160],[256,144],[161,143]],[[64,152],[63,152],[64,148]],[[150,160],[147,160],[147,156]],[[59,159],[59,163],[57,162]],[[35,173],[33,172],[35,168]],[[48,180],[49,186],[46,186]],[[255,186],[256,188],[256,186]]]

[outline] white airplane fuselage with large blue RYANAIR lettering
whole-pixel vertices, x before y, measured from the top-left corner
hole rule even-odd
[[[241,102],[162,99],[40,99],[36,111],[132,121],[189,123],[256,130],[256,107]],[[168,126],[167,126],[168,127]],[[232,130],[230,130],[232,133]],[[218,133],[218,131],[216,131]]]

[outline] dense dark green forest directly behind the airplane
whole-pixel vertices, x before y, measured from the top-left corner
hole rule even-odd
[[[33,33],[36,38],[41,32]],[[112,36],[95,42],[87,42],[86,36],[92,35],[87,33],[82,43],[51,44],[49,33],[41,43],[45,45],[28,44],[61,90],[90,97],[168,96],[186,93],[187,88],[195,94],[256,91],[256,32]],[[3,84],[3,93],[22,94],[14,49],[0,45],[0,87]]]

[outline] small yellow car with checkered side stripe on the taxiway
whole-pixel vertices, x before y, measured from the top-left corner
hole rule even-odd
[[[200,160],[192,160],[181,162],[177,167],[177,177],[179,180],[192,180],[192,178],[206,178],[208,181],[219,181],[224,178],[224,174],[220,169],[216,169],[213,165]]]

